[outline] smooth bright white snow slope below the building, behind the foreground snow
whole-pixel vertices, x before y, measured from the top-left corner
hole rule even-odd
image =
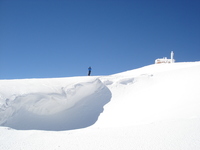
[[[101,80],[112,99],[97,122],[100,126],[200,117],[199,62],[150,65]]]

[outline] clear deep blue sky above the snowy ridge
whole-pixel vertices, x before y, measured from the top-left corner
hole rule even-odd
[[[0,0],[0,79],[200,61],[200,0]]]

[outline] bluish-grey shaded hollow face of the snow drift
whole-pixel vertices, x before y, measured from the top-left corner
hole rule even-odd
[[[17,130],[85,128],[98,120],[111,96],[99,79],[62,87],[59,93],[17,96],[0,108],[0,125]]]

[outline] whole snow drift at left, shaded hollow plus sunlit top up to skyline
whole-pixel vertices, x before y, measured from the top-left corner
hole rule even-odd
[[[94,124],[110,101],[108,88],[96,78],[60,79],[62,84],[58,80],[21,80],[23,85],[10,80],[11,87],[2,81],[0,124],[21,130],[69,130]]]

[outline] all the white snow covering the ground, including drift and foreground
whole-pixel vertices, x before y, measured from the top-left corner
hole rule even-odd
[[[0,80],[2,150],[199,150],[200,62]]]

